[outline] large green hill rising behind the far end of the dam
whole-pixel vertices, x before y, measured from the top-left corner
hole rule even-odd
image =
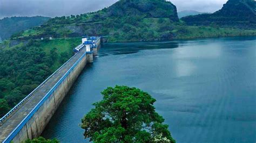
[[[50,19],[12,39],[106,35],[110,41],[172,39],[179,23],[176,6],[165,0],[121,0],[97,12]],[[167,32],[167,33],[166,33]]]

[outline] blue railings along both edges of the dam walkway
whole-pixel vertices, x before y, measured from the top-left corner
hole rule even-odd
[[[75,54],[76,55],[76,54]],[[74,55],[74,56],[75,56]],[[60,78],[60,80],[51,88],[51,90],[41,99],[41,101],[35,106],[35,108],[33,108],[32,109],[32,111],[21,121],[21,123],[19,123],[18,124],[18,126],[8,135],[8,137],[3,141],[3,142],[11,142],[11,140],[12,139],[14,139],[15,137],[16,137],[16,135],[19,133],[19,131],[21,131],[21,129],[23,128],[23,126],[26,124],[26,123],[28,123],[28,121],[32,118],[32,116],[33,115],[35,115],[35,113],[38,111],[38,109],[44,104],[44,102],[50,97],[50,95],[52,95],[52,93],[58,88],[58,86],[65,80],[65,78],[66,77],[68,77],[69,76],[69,74],[71,73],[71,71],[73,70],[73,69],[75,69],[75,67],[78,65],[78,63],[84,58],[84,56],[86,55],[86,52],[76,61],[76,63],[74,63],[73,65],[72,65],[72,67],[68,70],[68,71],[66,71],[66,73]],[[73,57],[74,57],[73,56]],[[73,58],[72,57],[72,58]],[[71,58],[71,59],[72,59]],[[70,59],[70,60],[71,60]],[[66,63],[68,63],[70,60],[68,60]],[[64,63],[64,65],[66,65],[66,63]],[[63,66],[64,66],[63,65]],[[63,67],[62,66],[62,67]],[[62,68],[62,67],[60,67],[60,68]],[[59,69],[60,69],[59,68]],[[59,70],[58,69],[58,70]],[[58,71],[58,70],[56,70],[55,71],[55,73]],[[52,75],[54,75],[55,73],[53,73]],[[51,75],[51,76],[52,76]],[[51,77],[50,76],[50,77]],[[38,86],[38,88],[37,89],[39,89],[40,88],[40,86],[42,87],[42,85],[43,84],[45,84],[48,80],[49,80],[49,78],[50,77],[48,77],[41,85],[39,85]],[[36,89],[34,90],[34,91],[32,91],[32,92],[35,92],[36,91]],[[32,92],[31,92],[31,94],[32,94]],[[29,96],[27,96],[26,98],[26,100],[28,100],[28,98],[29,97],[31,97],[32,95],[29,95]],[[25,98],[24,98],[25,99]],[[23,99],[23,100],[24,100]],[[25,100],[25,101],[26,101]],[[23,104],[25,101],[23,101],[23,102],[20,102],[19,104]],[[19,106],[21,106],[21,105],[19,105]],[[17,106],[18,107],[18,106]],[[15,109],[15,108],[14,108]],[[12,110],[14,110],[14,109],[12,109]],[[16,110],[16,109],[15,109]],[[12,112],[14,112],[14,111],[12,111]],[[10,111],[10,113],[11,113],[11,111]],[[7,117],[5,117],[5,118],[7,118]]]

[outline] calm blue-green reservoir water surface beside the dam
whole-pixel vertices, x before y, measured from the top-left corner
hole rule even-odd
[[[100,91],[129,85],[157,99],[177,142],[256,141],[256,37],[105,44],[43,132],[88,142],[80,120]]]

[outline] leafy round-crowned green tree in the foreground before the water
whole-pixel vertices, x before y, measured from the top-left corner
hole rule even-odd
[[[156,99],[126,86],[102,91],[103,100],[82,119],[84,137],[93,142],[175,142],[153,106]],[[159,139],[161,138],[161,139]]]

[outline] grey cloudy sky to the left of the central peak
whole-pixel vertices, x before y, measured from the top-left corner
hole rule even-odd
[[[0,18],[11,16],[69,16],[96,11],[117,0],[0,0]]]

